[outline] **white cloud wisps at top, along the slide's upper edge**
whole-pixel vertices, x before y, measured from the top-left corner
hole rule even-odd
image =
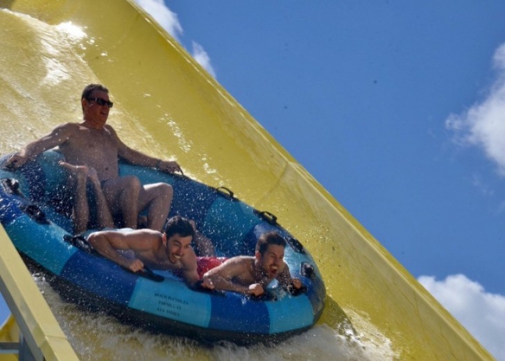
[[[163,0],[135,0],[146,12],[153,17],[170,35],[178,42],[179,36],[182,35],[182,25],[175,12],[165,5]],[[200,64],[210,75],[216,78],[216,72],[210,62],[209,54],[197,42],[193,44],[193,58]]]

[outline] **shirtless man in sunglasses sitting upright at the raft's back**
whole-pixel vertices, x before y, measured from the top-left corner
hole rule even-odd
[[[171,185],[142,186],[135,176],[119,176],[119,158],[132,165],[153,167],[166,173],[181,171],[177,162],[158,160],[126,146],[112,126],[105,124],[112,102],[108,89],[90,84],[81,96],[83,121],[56,126],[51,133],[27,144],[13,155],[7,167],[20,167],[47,149],[58,146],[71,165],[95,169],[110,212],[122,219],[121,226],[137,228],[139,212],[147,210],[147,226],[162,230],[173,196]]]

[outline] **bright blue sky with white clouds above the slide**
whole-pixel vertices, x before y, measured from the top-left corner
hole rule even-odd
[[[505,360],[505,2],[137,3]]]

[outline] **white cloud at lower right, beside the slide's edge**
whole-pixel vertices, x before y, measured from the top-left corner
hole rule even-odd
[[[462,274],[418,280],[497,360],[505,360],[505,296]]]

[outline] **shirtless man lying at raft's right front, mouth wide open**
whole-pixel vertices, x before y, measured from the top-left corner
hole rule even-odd
[[[210,280],[215,289],[260,296],[274,278],[280,285],[300,289],[298,278],[291,278],[284,262],[286,240],[277,232],[264,233],[256,244],[255,256],[239,255],[207,271],[203,280]]]

